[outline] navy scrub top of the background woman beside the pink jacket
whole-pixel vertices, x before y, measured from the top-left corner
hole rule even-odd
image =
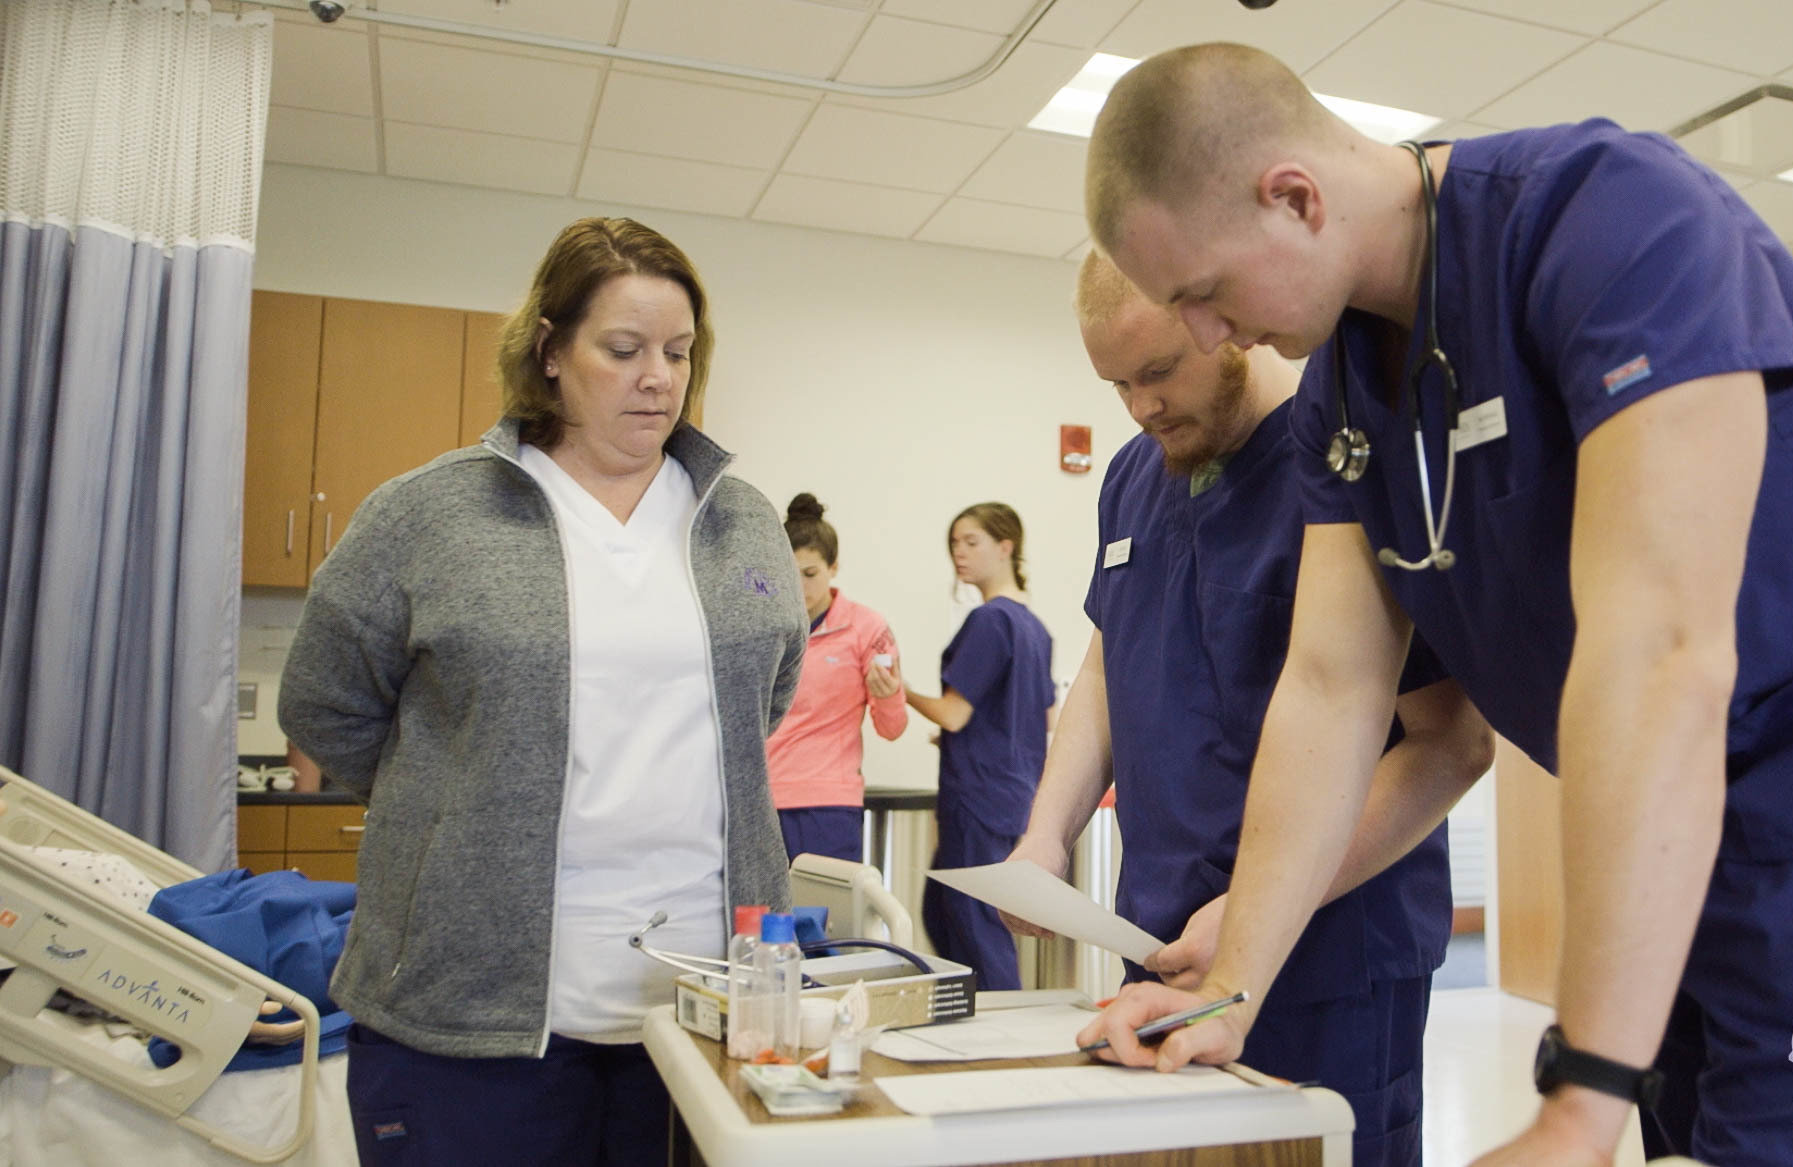
[[[1018,837],[1045,767],[1051,633],[1026,604],[999,595],[965,617],[940,656],[940,683],[972,703],[972,719],[940,735],[938,814]]]

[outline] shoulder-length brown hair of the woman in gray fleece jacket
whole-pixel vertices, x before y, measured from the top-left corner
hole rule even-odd
[[[597,289],[617,276],[660,276],[690,296],[697,335],[690,346],[690,382],[680,421],[689,421],[703,405],[715,333],[697,269],[672,240],[633,219],[579,219],[541,256],[529,296],[498,330],[504,416],[516,418],[520,437],[540,450],[552,450],[567,437],[567,405],[559,385],[543,371],[543,360],[572,341]],[[545,341],[540,339],[541,321],[549,323]]]

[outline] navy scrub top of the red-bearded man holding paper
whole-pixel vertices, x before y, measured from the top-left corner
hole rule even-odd
[[[1289,649],[1302,504],[1287,412],[1284,402],[1264,418],[1194,498],[1146,434],[1115,454],[1103,482],[1085,613],[1101,629],[1108,683],[1124,841],[1115,898],[1121,916],[1164,941],[1232,880],[1259,730]],[[1436,679],[1415,642],[1404,688]],[[1273,995],[1329,1000],[1425,975],[1449,938],[1440,826],[1314,914]]]

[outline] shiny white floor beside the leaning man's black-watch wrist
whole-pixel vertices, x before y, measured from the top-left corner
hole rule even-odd
[[[1425,1024],[1425,1167],[1463,1167],[1537,1113],[1531,1056],[1546,1006],[1494,988],[1434,990]],[[1637,1119],[1615,1167],[1644,1162]]]

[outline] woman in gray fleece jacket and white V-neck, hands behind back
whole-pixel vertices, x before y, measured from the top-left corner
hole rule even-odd
[[[504,418],[377,489],[319,568],[280,722],[368,803],[332,995],[364,1163],[665,1162],[640,1018],[789,905],[766,737],[807,620],[771,504],[689,418],[703,285],[574,222],[507,321]]]

